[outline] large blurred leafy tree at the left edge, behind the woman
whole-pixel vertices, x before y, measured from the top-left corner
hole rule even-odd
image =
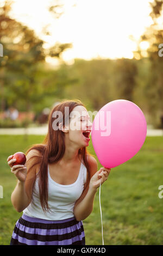
[[[0,58],[1,110],[11,105],[28,112],[40,104],[47,91],[51,95],[60,92],[57,84],[41,81],[49,72],[45,69],[45,57],[59,58],[71,44],[56,44],[45,50],[43,40],[34,31],[10,18],[11,5],[11,1],[5,1],[0,8],[0,42],[4,49],[4,57]]]

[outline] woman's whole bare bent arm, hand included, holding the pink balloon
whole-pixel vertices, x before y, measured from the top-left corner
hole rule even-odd
[[[83,192],[82,196],[77,200],[76,204],[74,205],[74,216],[76,217],[77,221],[82,221],[85,218],[87,218],[92,210],[93,210],[93,202],[95,199],[95,194],[97,192],[97,189],[100,184],[103,184],[103,182],[108,178],[109,173],[107,171],[104,171],[102,173],[101,168],[97,172],[97,161],[94,157],[90,157],[90,166],[91,166],[91,180],[90,184],[87,185],[86,190]],[[106,169],[105,169],[106,170]],[[100,179],[99,176],[102,178]]]

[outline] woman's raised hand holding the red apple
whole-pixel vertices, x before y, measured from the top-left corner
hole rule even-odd
[[[7,161],[8,164],[11,168],[11,173],[14,173],[16,178],[21,181],[25,182],[26,181],[26,176],[27,176],[27,167],[22,165],[22,164],[16,164],[15,166],[13,165],[16,159],[12,159],[12,156],[9,156]]]

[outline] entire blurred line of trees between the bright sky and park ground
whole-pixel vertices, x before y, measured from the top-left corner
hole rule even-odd
[[[153,24],[141,36],[133,59],[74,59],[68,65],[62,53],[72,44],[57,42],[44,48],[44,41],[32,29],[10,17],[12,2],[5,1],[0,7],[0,110],[14,106],[38,114],[55,101],[78,98],[89,110],[98,111],[109,101],[126,99],[142,109],[148,124],[161,127],[163,66],[158,52],[163,43],[162,2],[151,3]],[[49,12],[59,19],[64,4],[53,1]],[[48,25],[42,31],[51,33]],[[149,44],[146,51],[140,47],[145,41]],[[47,57],[59,59],[60,65],[50,65]]]

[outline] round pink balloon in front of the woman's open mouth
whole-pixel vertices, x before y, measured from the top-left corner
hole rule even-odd
[[[105,168],[116,167],[133,157],[147,135],[147,123],[141,109],[128,100],[104,105],[92,124],[92,144]]]

